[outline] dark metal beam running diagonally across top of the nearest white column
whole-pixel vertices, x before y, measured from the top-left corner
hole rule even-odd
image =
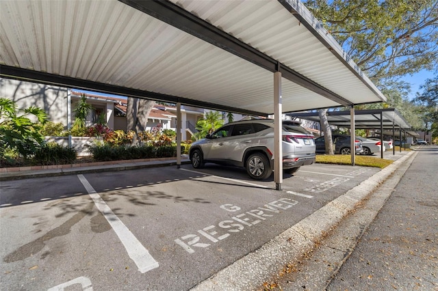
[[[194,16],[187,10],[179,7],[170,1],[144,1],[144,0],[118,0],[123,2],[136,10],[144,12],[154,18],[162,20],[168,25],[172,25],[177,29],[181,29],[186,33],[190,33],[196,38],[200,38],[205,42],[209,42],[214,46],[237,55],[242,59],[246,59],[261,68],[269,70],[270,72],[281,72],[282,77],[292,81],[302,87],[305,87],[321,96],[333,100],[341,105],[350,106],[352,102],[342,98],[338,94],[331,92],[329,89],[303,76],[302,74],[292,70],[279,61],[272,59],[268,55],[257,51],[257,49],[248,44],[230,36],[228,33],[218,29],[214,25],[207,23],[207,21]]]

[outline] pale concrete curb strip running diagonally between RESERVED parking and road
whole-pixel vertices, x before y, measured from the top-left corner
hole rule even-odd
[[[294,264],[355,210],[380,184],[400,167],[414,152],[402,156],[355,188],[329,202],[296,225],[276,236],[256,251],[248,253],[216,275],[192,288],[201,290],[259,290],[263,282],[271,281],[287,264]]]

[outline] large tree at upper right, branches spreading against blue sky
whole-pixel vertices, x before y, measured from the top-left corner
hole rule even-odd
[[[305,0],[370,79],[385,82],[437,69],[438,1]],[[326,115],[321,115],[326,122]],[[322,128],[327,135],[330,127]],[[329,152],[326,149],[326,152]]]

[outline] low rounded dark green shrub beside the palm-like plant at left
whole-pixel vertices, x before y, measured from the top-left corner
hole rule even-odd
[[[69,146],[51,142],[36,150],[32,162],[36,165],[64,165],[74,163],[76,151]]]

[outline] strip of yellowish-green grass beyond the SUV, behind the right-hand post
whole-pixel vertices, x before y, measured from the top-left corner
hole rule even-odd
[[[356,156],[356,165],[364,167],[378,167],[383,169],[391,165],[394,161],[386,160],[385,158],[376,158],[373,156]],[[346,154],[335,154],[328,156],[325,154],[316,155],[316,163],[321,164],[337,164],[337,165],[351,165],[351,156]]]

